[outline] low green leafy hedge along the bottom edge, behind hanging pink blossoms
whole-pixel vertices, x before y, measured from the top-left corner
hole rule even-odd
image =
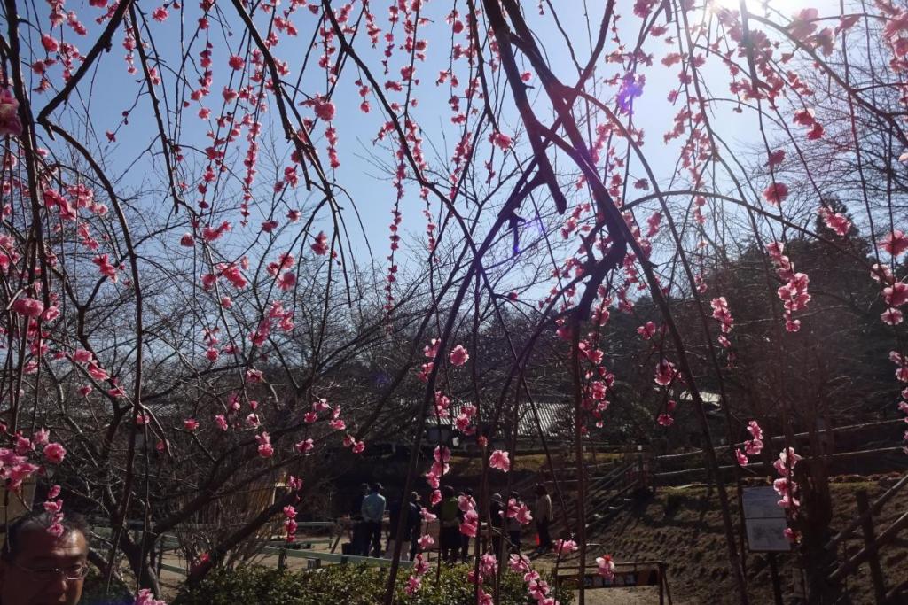
[[[401,605],[473,605],[469,567],[443,567],[436,581],[433,567],[422,577],[422,588],[409,596],[404,591],[409,573],[401,570],[397,599]],[[321,570],[277,571],[259,566],[212,571],[197,586],[183,588],[174,605],[375,605],[384,597],[388,571],[362,565],[331,565]],[[491,586],[486,587],[489,594]],[[559,595],[563,605],[573,599]],[[498,605],[535,603],[523,578],[511,571],[502,574]]]

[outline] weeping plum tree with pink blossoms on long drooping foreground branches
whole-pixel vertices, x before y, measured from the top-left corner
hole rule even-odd
[[[454,421],[486,454],[484,472],[519,464],[489,436],[513,434],[517,415],[505,411],[533,405],[528,368],[549,348],[582,466],[586,440],[610,422],[615,316],[639,321],[635,363],[665,402],[652,431],[692,416],[719,476],[700,385],[716,386],[737,441],[723,361],[744,345],[733,293],[715,277],[756,250],[782,349],[804,336],[821,296],[791,245],[802,240],[864,267],[893,343],[898,405],[908,7],[817,4],[6,0],[8,487],[58,466],[64,489],[45,506],[91,503],[114,528],[104,564],[125,554],[148,600],[164,532],[289,467],[286,493],[219,534],[190,581],[267,522],[292,535],[315,481],[306,475],[331,471],[331,448],[361,453],[411,379],[422,395],[407,410],[404,493],[424,477],[440,496],[449,453],[437,449],[426,473],[419,444],[430,419],[452,414],[455,388],[472,390]],[[835,120],[829,99],[847,110]],[[844,207],[828,203],[836,182],[819,178],[812,150],[857,167],[837,192]],[[868,165],[888,167],[884,187]],[[644,299],[656,317],[639,317]],[[692,321],[677,320],[682,306]],[[506,366],[494,384],[477,370],[490,326]],[[383,379],[351,378],[367,366]],[[792,405],[783,393],[771,410],[785,435]],[[728,464],[762,450],[759,425],[749,430]],[[777,483],[796,541],[792,447],[786,437]],[[723,485],[717,493],[747,602],[731,505]],[[483,482],[460,503],[461,532],[478,534],[488,500]],[[610,556],[587,548],[586,507],[578,498],[559,556],[576,551],[581,568],[608,577]],[[510,508],[529,522],[525,506]],[[137,539],[130,518],[143,519]],[[530,595],[555,602],[528,561],[510,565]],[[477,556],[478,602],[495,599],[501,567]],[[410,592],[427,571],[420,560]]]

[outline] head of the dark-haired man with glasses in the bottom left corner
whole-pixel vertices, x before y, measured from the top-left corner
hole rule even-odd
[[[19,537],[12,562],[0,561],[0,603],[3,605],[75,605],[84,580],[66,580],[64,571],[85,564],[88,546],[82,532],[56,538],[42,528]],[[53,570],[64,570],[53,572]]]

